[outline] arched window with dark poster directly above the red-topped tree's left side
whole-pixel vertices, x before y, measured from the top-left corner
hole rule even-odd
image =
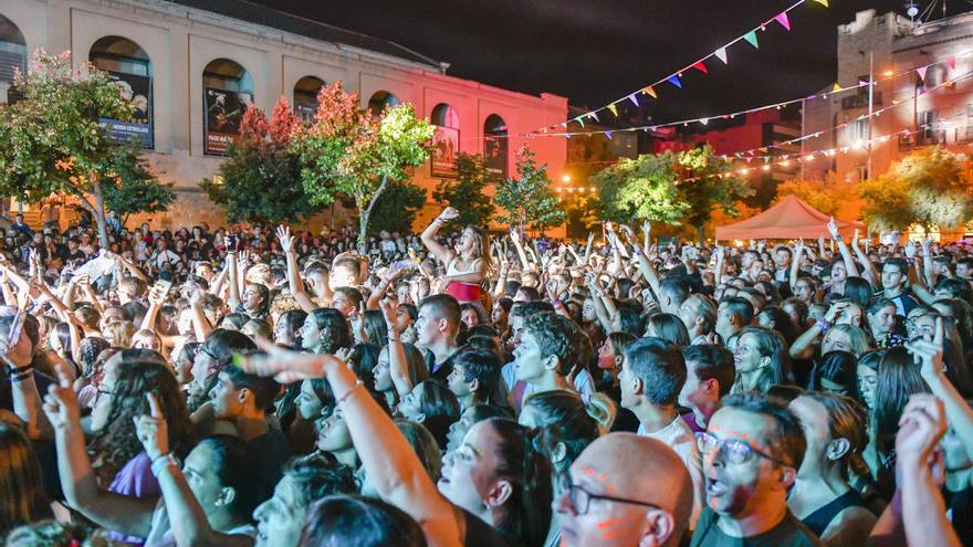
[[[210,61],[202,71],[203,152],[226,156],[240,138],[243,112],[253,104],[253,78],[229,59]]]

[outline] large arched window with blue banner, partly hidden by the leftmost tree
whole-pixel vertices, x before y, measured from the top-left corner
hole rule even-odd
[[[153,148],[153,80],[151,61],[137,43],[122,36],[105,36],[92,45],[88,60],[105,71],[132,102],[135,117],[129,122],[102,119],[101,124],[116,140],[136,140],[143,148]]]

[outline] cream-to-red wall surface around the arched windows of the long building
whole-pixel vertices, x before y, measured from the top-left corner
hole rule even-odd
[[[74,66],[83,69],[98,39],[118,35],[137,43],[151,61],[155,149],[147,158],[160,178],[175,183],[178,201],[151,220],[161,227],[188,221],[220,224],[219,210],[197,182],[212,177],[221,158],[203,154],[202,72],[216,59],[236,61],[253,81],[254,104],[270,111],[281,95],[293,103],[294,84],[316,76],[326,84],[342,81],[362,97],[363,107],[385,91],[415,105],[428,117],[440,103],[459,115],[460,146],[483,152],[483,124],[499,115],[511,135],[508,171],[514,172],[514,151],[525,144],[521,133],[566,118],[567,99],[552,94],[532,96],[440,74],[428,64],[312,40],[268,27],[159,0],[0,0],[0,15],[21,30],[28,51],[71,50]],[[565,139],[534,139],[531,148],[547,164],[554,180],[564,172]],[[417,168],[414,180],[431,190],[439,179],[430,166]],[[427,222],[440,206],[429,203],[417,222]]]

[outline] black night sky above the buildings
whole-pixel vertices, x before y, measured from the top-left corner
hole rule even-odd
[[[278,10],[391,40],[437,61],[448,74],[531,94],[551,92],[598,107],[711,53],[796,0],[263,0]],[[948,14],[966,0],[939,0]],[[918,1],[924,9],[931,0]],[[837,25],[855,12],[904,14],[899,0],[808,0],[740,42],[729,65],[691,71],[683,90],[659,86],[649,114],[658,123],[795,98],[829,87]],[[647,99],[650,101],[650,99]]]

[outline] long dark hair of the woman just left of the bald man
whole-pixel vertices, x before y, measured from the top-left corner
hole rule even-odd
[[[496,529],[521,545],[542,545],[551,526],[554,496],[551,462],[534,448],[536,430],[512,420],[491,418],[489,423],[500,441],[493,475],[510,481],[513,493],[503,504]]]

